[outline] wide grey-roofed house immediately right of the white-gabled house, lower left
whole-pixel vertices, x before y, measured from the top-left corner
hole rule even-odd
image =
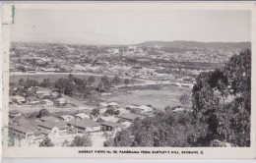
[[[74,129],[77,133],[91,133],[100,131],[100,124],[87,118],[82,120],[71,120],[68,122],[68,126]]]

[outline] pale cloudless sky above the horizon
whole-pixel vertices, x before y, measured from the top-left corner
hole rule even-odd
[[[11,41],[136,44],[251,40],[249,11],[16,9]]]

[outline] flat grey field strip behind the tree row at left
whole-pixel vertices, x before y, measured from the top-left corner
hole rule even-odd
[[[51,82],[54,82],[54,81],[58,81],[59,79],[61,78],[64,78],[64,79],[68,79],[68,75],[69,74],[25,74],[25,75],[10,75],[10,82],[14,82],[14,83],[18,83],[19,80],[21,78],[23,78],[24,80],[27,80],[27,79],[30,79],[30,80],[36,80],[36,81],[43,81],[43,79],[48,79],[51,81]],[[89,74],[73,74],[75,78],[79,78],[79,79],[88,79],[90,76],[94,76],[95,77],[95,82],[93,83],[93,85],[97,85],[98,82],[100,81],[101,79],[101,75],[89,75]],[[108,79],[111,81],[113,79],[113,77],[108,77]],[[121,79],[121,84],[124,84],[124,79],[120,78]],[[135,81],[135,82],[142,82],[142,81]]]

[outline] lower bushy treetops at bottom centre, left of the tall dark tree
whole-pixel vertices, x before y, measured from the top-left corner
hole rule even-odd
[[[199,130],[191,112],[159,112],[155,117],[136,119],[104,146],[193,146],[190,137]]]

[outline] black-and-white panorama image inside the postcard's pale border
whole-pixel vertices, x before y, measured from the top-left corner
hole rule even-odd
[[[252,10],[116,6],[12,6],[8,148],[252,147]]]

